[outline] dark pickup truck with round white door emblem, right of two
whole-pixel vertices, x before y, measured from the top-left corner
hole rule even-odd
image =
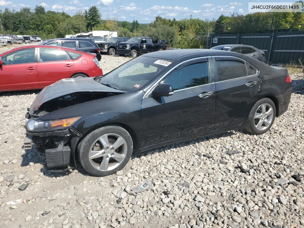
[[[137,57],[153,51],[167,50],[168,40],[153,40],[150,37],[132,37],[127,42],[117,43],[117,54]]]

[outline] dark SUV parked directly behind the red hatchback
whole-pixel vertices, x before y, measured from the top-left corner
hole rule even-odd
[[[74,49],[79,49],[81,51],[89,51],[96,54],[98,61],[101,60],[100,48],[92,39],[86,38],[57,38],[44,40],[39,45],[52,45],[52,46],[62,46],[70,47]]]

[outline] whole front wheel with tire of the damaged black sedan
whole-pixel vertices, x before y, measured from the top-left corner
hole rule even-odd
[[[78,144],[78,158],[89,174],[103,177],[121,170],[133,151],[130,134],[121,126],[110,125],[89,133]]]

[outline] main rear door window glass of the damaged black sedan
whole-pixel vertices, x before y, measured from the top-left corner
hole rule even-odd
[[[237,60],[216,60],[219,81],[247,76],[244,62]]]

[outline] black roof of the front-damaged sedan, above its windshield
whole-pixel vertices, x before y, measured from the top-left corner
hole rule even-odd
[[[156,51],[145,54],[147,57],[155,57],[162,59],[178,60],[183,57],[203,57],[216,53],[216,55],[227,55],[227,51],[214,49],[169,49],[164,51]]]

